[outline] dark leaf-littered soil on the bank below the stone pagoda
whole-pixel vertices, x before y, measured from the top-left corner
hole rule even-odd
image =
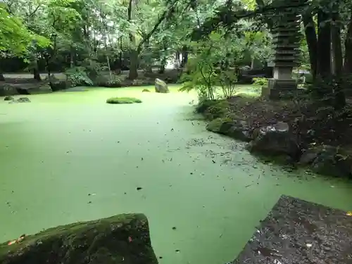
[[[352,103],[337,113],[309,99],[270,101],[235,96],[229,100],[230,116],[246,121],[252,129],[287,122],[303,148],[310,144],[352,146]]]

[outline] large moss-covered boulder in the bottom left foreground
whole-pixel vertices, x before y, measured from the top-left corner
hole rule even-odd
[[[145,215],[54,227],[0,245],[1,264],[157,264]]]

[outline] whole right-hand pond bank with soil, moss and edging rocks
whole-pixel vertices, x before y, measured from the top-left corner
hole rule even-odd
[[[251,153],[313,172],[352,177],[352,108],[334,111],[314,101],[234,96],[198,106],[207,129],[249,142]]]

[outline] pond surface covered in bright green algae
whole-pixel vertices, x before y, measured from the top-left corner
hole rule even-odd
[[[281,194],[352,208],[352,184],[258,163],[242,143],[207,132],[194,94],[142,89],[0,102],[1,241],[140,212],[160,263],[223,264]],[[112,96],[143,103],[106,104]]]

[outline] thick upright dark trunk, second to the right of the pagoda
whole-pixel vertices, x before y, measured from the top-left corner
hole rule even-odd
[[[322,79],[331,75],[331,22],[329,13],[318,11],[317,75]]]

